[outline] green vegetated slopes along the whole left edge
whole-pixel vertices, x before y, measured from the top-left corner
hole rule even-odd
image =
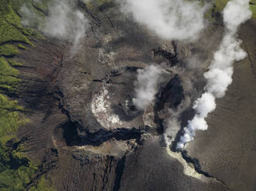
[[[7,96],[17,92],[20,79],[15,67],[22,65],[11,58],[32,45],[31,37],[41,37],[36,30],[23,27],[16,14],[24,2],[31,0],[0,0],[0,190],[6,191],[26,190],[38,169],[24,152],[26,140],[16,136],[17,129],[29,122],[26,109]],[[47,185],[45,178],[39,179],[30,190],[53,190]]]

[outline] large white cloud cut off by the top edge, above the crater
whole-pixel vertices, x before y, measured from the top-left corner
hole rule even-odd
[[[121,10],[162,39],[193,40],[204,28],[207,5],[186,0],[124,0]]]

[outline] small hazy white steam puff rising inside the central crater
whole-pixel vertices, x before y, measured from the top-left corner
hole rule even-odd
[[[132,100],[137,109],[143,110],[155,99],[156,88],[162,70],[149,65],[145,69],[138,69],[137,81],[135,82],[136,96]]]

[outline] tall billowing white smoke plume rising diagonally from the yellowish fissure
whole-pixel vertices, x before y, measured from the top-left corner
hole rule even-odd
[[[241,24],[251,18],[249,0],[231,0],[224,8],[225,34],[219,49],[215,52],[209,71],[204,74],[207,79],[206,92],[194,102],[193,109],[196,115],[189,120],[184,128],[177,149],[183,149],[186,142],[193,140],[196,130],[208,128],[206,118],[216,108],[215,99],[225,95],[227,87],[232,82],[233,64],[246,57],[246,52],[241,49],[241,40],[236,33]]]

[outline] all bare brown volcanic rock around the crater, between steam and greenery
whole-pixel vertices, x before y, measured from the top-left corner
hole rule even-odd
[[[49,175],[56,190],[253,190],[254,23],[241,29],[248,59],[236,64],[234,83],[210,115],[209,130],[199,132],[187,148],[187,155],[200,164],[196,176],[209,179],[203,182],[185,175],[182,163],[168,155],[161,141],[162,122],[170,115],[169,107],[178,106],[185,95],[193,101],[203,91],[202,74],[223,28],[213,25],[190,44],[164,42],[116,7],[85,10],[91,30],[73,58],[67,43],[49,38],[35,40],[36,48],[17,58],[25,63],[19,67],[22,85],[17,96],[30,109],[31,121],[19,129],[19,136],[27,138],[29,156],[43,164],[39,176]],[[196,74],[187,67],[191,58],[202,63]],[[166,102],[156,100],[161,107],[150,106],[143,113],[131,99],[136,70],[149,64],[165,70],[158,95],[167,97]],[[190,109],[182,122],[191,116]],[[148,113],[152,117],[145,117]]]

